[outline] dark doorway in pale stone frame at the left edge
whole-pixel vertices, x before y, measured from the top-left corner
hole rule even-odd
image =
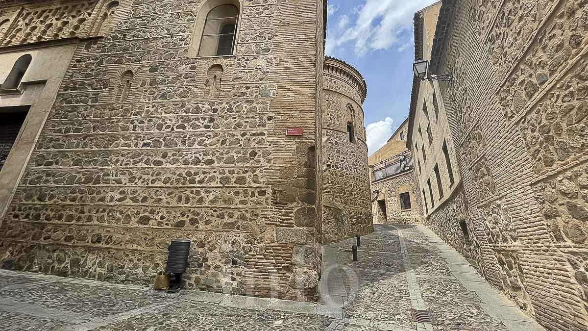
[[[16,142],[29,107],[0,108],[0,170]]]

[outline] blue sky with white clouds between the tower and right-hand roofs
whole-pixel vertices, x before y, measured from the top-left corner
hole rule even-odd
[[[436,0],[329,0],[326,55],[357,68],[368,83],[363,104],[369,154],[408,115],[413,17]]]

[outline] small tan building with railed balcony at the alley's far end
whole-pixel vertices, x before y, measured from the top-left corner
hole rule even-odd
[[[373,223],[420,224],[423,209],[415,166],[406,148],[408,119],[369,158]]]

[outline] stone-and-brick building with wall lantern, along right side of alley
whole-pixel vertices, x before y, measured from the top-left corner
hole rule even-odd
[[[580,0],[443,0],[415,15],[415,58],[453,75],[413,84],[424,223],[550,330],[588,329],[587,18]]]

